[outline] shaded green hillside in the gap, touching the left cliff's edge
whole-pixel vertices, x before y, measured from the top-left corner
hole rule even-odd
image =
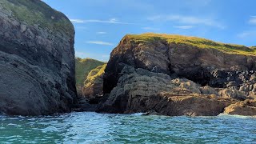
[[[75,58],[75,78],[77,87],[81,88],[84,86],[84,82],[90,71],[103,64],[105,64],[105,62],[100,62],[91,58]]]

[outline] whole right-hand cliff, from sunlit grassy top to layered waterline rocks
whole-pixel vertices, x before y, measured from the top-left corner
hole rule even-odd
[[[98,111],[219,114],[235,101],[254,98],[254,55],[253,48],[204,38],[166,34],[126,35],[112,51],[106,66],[103,91],[110,96]],[[132,74],[126,74],[126,66],[135,68],[128,70]],[[148,72],[138,74],[141,70]],[[154,74],[168,77],[158,78]],[[198,88],[181,97],[179,94],[183,90],[180,86],[162,80],[175,78],[189,79],[194,83],[190,84],[198,85],[192,87]],[[182,87],[190,90],[190,84],[185,82]],[[210,96],[212,94],[214,97]],[[209,111],[200,112],[200,109]]]

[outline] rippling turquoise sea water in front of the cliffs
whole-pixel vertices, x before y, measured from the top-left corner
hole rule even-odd
[[[0,143],[256,143],[256,118],[71,113],[0,116]]]

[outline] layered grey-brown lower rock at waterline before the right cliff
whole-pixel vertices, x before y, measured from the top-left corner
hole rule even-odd
[[[198,84],[169,75],[125,66],[98,112],[136,113],[155,111],[164,115],[218,115],[226,106],[236,102],[232,98],[202,95]],[[150,113],[150,112],[149,112]]]

